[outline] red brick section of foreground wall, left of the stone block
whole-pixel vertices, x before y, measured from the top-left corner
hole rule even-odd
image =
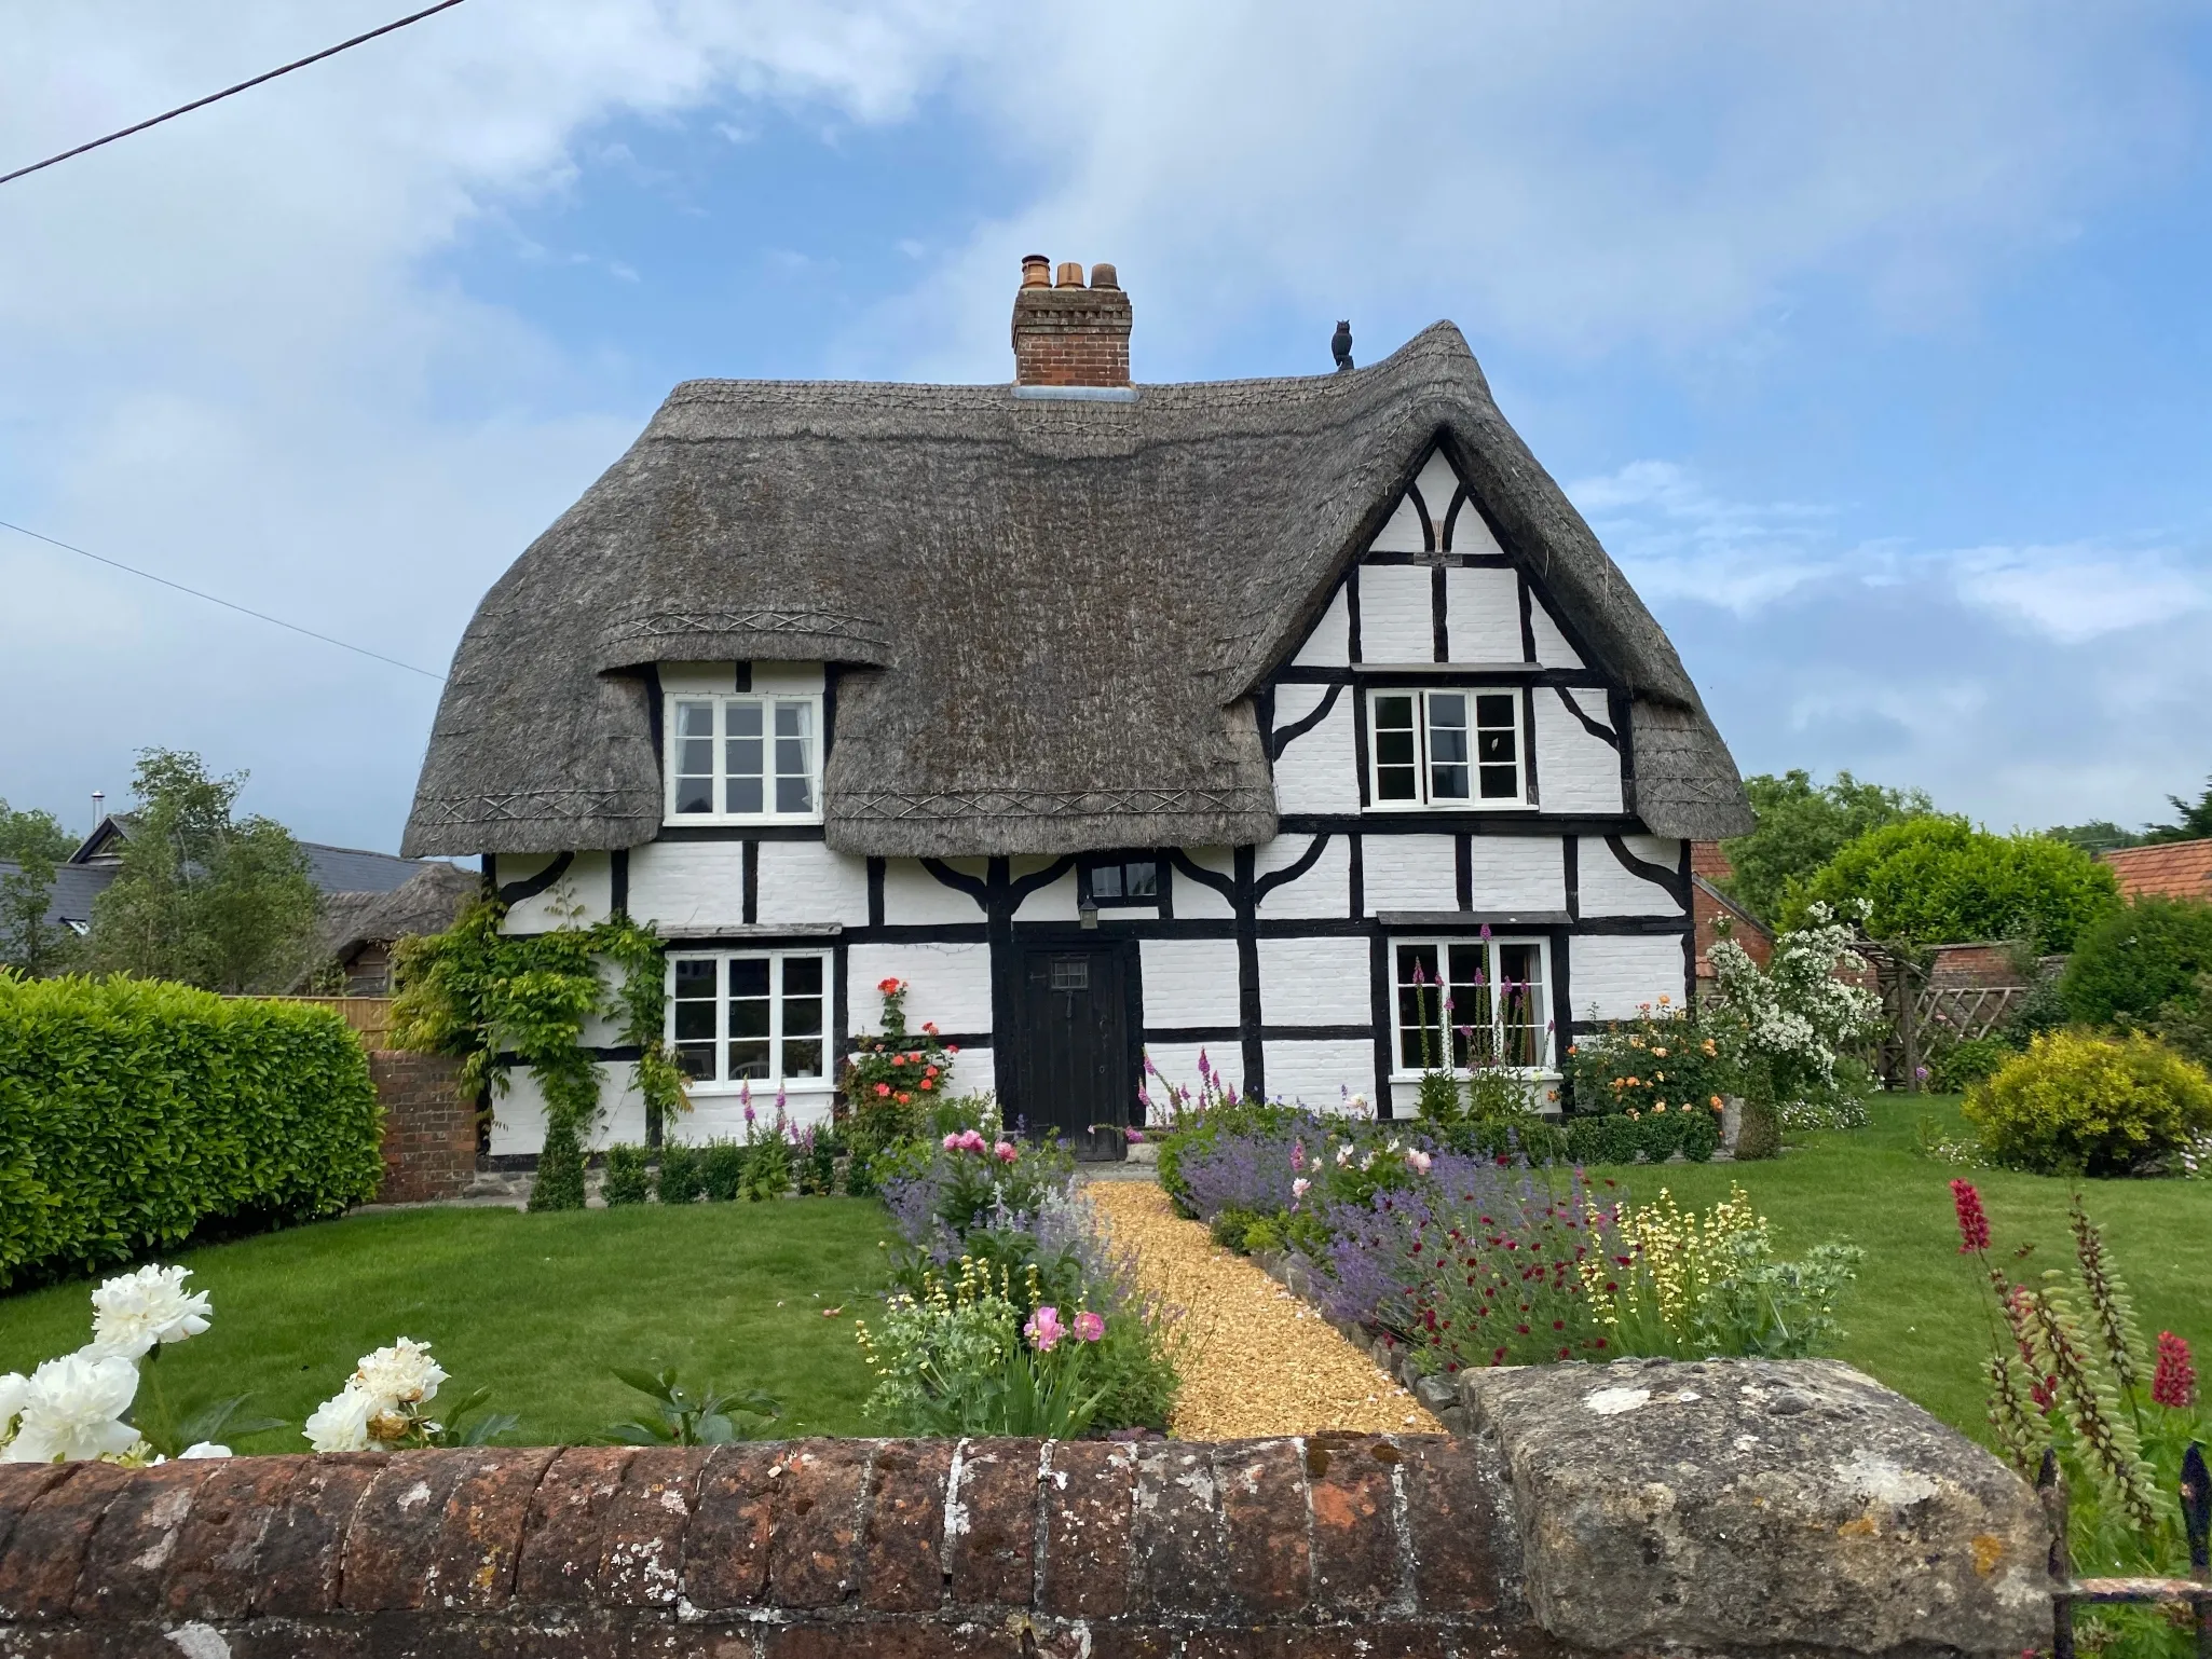
[[[1551,1655],[1482,1458],[801,1440],[0,1464],[0,1655]]]

